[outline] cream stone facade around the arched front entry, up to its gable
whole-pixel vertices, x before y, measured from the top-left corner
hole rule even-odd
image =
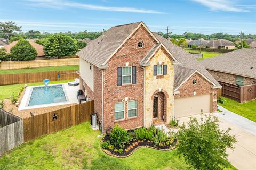
[[[167,75],[154,76],[154,65],[158,65],[161,61],[162,64],[167,65]],[[153,123],[153,99],[157,92],[163,92],[164,99],[166,100],[166,108],[164,121],[169,123],[173,115],[173,83],[174,73],[173,64],[169,54],[163,48],[160,48],[150,60],[150,66],[145,68],[145,126],[149,127]],[[160,96],[159,102],[162,99]],[[161,112],[161,111],[160,111]],[[161,117],[161,115],[160,115]]]

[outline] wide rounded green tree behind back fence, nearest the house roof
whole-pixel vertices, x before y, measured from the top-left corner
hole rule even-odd
[[[47,58],[71,56],[77,52],[73,39],[63,33],[55,33],[48,38],[44,45],[44,54]]]

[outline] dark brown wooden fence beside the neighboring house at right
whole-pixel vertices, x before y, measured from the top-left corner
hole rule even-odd
[[[249,86],[236,86],[219,82],[222,86],[221,96],[236,100],[240,103],[256,99],[256,84]]]

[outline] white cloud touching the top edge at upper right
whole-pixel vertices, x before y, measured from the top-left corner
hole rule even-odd
[[[207,6],[212,11],[249,12],[247,6],[239,5],[232,0],[192,0]]]

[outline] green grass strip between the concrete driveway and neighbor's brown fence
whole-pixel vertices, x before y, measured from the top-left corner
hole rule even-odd
[[[235,100],[225,99],[227,102],[225,104],[220,104],[222,107],[256,122],[256,100],[248,101],[247,103],[238,103]]]

